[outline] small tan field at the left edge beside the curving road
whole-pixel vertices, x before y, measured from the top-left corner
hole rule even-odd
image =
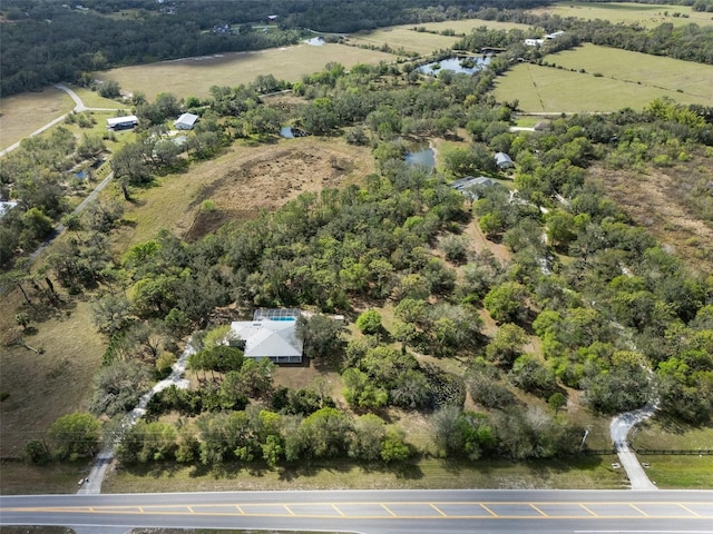
[[[55,87],[0,99],[0,150],[71,111],[75,102]]]

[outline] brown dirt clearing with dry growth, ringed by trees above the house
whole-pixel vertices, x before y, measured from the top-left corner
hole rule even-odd
[[[341,140],[300,138],[238,155],[215,169],[192,204],[215,202],[215,211],[198,211],[185,234],[195,240],[231,220],[247,220],[272,211],[305,191],[342,187],[374,171],[368,149]]]

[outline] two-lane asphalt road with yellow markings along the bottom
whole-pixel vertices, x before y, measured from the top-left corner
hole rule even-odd
[[[713,534],[713,492],[324,491],[0,496],[0,524],[418,533]]]

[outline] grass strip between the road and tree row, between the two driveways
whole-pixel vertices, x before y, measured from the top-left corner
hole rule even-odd
[[[106,493],[157,492],[170,484],[175,492],[349,488],[621,488],[626,481],[611,468],[609,457],[512,463],[452,462],[424,458],[399,466],[349,461],[305,462],[276,471],[227,466],[223,472],[202,466],[153,466],[114,472]]]

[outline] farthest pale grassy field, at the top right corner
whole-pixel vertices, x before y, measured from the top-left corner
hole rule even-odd
[[[684,26],[691,22],[700,26],[713,24],[713,13],[693,11],[688,6],[625,2],[560,2],[547,8],[533,9],[531,11],[535,13],[553,13],[560,17],[576,17],[587,20],[608,20],[614,24],[637,23],[646,28],[654,28],[664,22],[671,22],[674,26]],[[678,13],[678,16],[674,17],[674,13]]]

